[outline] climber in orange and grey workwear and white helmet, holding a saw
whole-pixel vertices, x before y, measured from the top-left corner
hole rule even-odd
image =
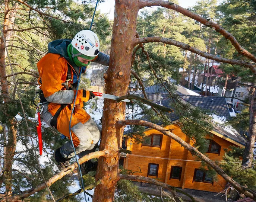
[[[41,89],[40,103],[44,105],[42,118],[70,139],[69,121],[74,104],[79,71],[85,73],[90,62],[108,66],[109,56],[99,52],[98,36],[90,30],[78,32],[73,39],[58,39],[48,44],[48,53],[37,63]],[[71,121],[71,134],[76,153],[83,156],[95,151],[101,132],[83,109],[83,102],[94,98],[88,90],[78,90]],[[75,155],[69,140],[54,152],[60,170],[69,166]],[[93,167],[91,162],[83,164],[82,170]]]

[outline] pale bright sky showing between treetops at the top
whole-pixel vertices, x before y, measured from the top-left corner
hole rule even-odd
[[[197,0],[179,0],[179,5],[183,8],[194,6]],[[114,5],[115,0],[105,0],[104,3],[99,3],[97,10],[101,10],[102,13],[109,13],[109,19],[114,19]],[[150,8],[149,8],[150,9]]]

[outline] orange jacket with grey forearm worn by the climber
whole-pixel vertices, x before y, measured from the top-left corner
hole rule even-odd
[[[50,102],[48,110],[53,110],[52,115],[57,111],[56,108],[59,108],[59,104],[72,104],[74,101],[75,90],[66,90],[66,87],[61,85],[66,81],[67,64],[64,57],[53,53],[48,53],[37,63],[38,84],[41,85],[40,89],[44,93],[45,99]],[[70,67],[72,68],[71,65]],[[73,71],[71,71],[71,77],[73,79]],[[72,81],[70,82],[72,83]],[[88,100],[89,91],[86,91],[86,97],[83,97],[83,90],[78,90],[76,104],[83,107],[83,102]]]

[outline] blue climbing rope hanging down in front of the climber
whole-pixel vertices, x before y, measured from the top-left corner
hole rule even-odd
[[[94,9],[94,13],[93,13],[93,16],[92,16],[92,22],[91,22],[91,26],[90,26],[90,30],[92,29],[92,23],[93,23],[93,20],[94,20],[94,16],[95,16],[95,12],[96,12],[96,8],[97,8],[97,5],[98,5],[98,1],[96,2],[96,6],[95,6],[95,9]],[[72,143],[72,147],[73,147],[73,150],[74,150],[74,153],[75,153],[75,158],[76,158],[76,163],[78,164],[78,169],[79,169],[79,172],[78,172],[78,175],[80,176],[79,178],[79,182],[80,182],[80,185],[83,189],[83,193],[85,195],[85,201],[87,202],[86,200],[86,192],[85,192],[85,186],[83,184],[83,176],[82,176],[82,171],[81,171],[81,167],[80,167],[80,164],[78,162],[78,157],[76,155],[76,150],[75,150],[75,146],[74,146],[74,143],[73,143],[73,139],[72,139],[72,135],[71,135],[71,121],[72,121],[72,116],[73,116],[73,112],[74,112],[74,109],[75,109],[75,103],[76,103],[76,97],[77,97],[77,94],[78,94],[78,88],[79,88],[79,84],[80,84],[80,79],[81,79],[81,74],[82,74],[82,67],[80,67],[80,71],[79,71],[79,77],[78,77],[78,85],[76,87],[76,94],[75,94],[75,97],[74,97],[74,105],[72,107],[72,110],[71,110],[71,115],[70,115],[70,120],[69,120],[69,135],[70,135],[70,140],[71,140],[71,143]]]

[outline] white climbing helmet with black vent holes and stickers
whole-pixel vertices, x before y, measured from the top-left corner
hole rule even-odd
[[[80,52],[80,54],[73,54],[72,51],[73,58],[82,54],[90,57],[96,57],[99,54],[99,38],[91,30],[78,32],[72,39],[71,44]]]

